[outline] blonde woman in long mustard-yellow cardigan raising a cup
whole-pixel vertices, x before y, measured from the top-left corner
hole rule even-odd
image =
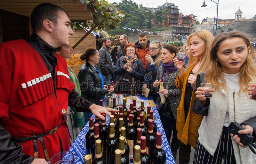
[[[192,112],[193,101],[196,99],[196,75],[204,72],[208,66],[205,61],[209,61],[207,58],[210,57],[212,41],[213,36],[207,30],[197,31],[188,37],[190,56],[184,72],[184,61],[179,61],[177,57],[173,59],[175,67],[179,70],[175,85],[177,89],[182,89],[176,124],[180,140],[179,163],[189,163],[191,146],[196,147],[198,128],[203,119],[203,116]]]

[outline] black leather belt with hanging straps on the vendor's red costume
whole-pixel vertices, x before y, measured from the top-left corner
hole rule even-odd
[[[62,124],[62,123],[61,123]],[[60,125],[61,125],[60,124]],[[33,147],[34,147],[34,158],[38,158],[38,148],[37,148],[37,139],[39,141],[42,142],[43,144],[43,148],[44,148],[44,155],[45,155],[45,158],[46,160],[48,161],[49,160],[49,157],[48,157],[48,153],[46,151],[46,147],[45,147],[45,144],[44,144],[44,139],[42,137],[48,135],[48,134],[53,134],[55,133],[60,125],[58,125],[56,128],[54,128],[53,130],[47,132],[47,133],[44,133],[44,134],[41,134],[41,135],[34,135],[34,136],[31,136],[31,137],[24,137],[24,138],[13,138],[14,142],[17,142],[18,143],[18,146],[21,146],[21,143],[22,142],[25,142],[25,141],[29,141],[29,140],[33,140]]]

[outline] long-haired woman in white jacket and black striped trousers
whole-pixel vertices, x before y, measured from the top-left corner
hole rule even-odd
[[[255,138],[256,102],[250,100],[247,84],[256,80],[256,69],[249,51],[254,57],[249,39],[239,32],[222,33],[213,40],[203,79],[216,88],[211,98],[204,96],[201,87],[196,91],[193,108],[206,109],[208,114],[198,130],[194,164],[221,163],[223,158],[224,163],[256,163],[249,147],[228,132],[229,123],[237,122],[245,129],[240,134]]]

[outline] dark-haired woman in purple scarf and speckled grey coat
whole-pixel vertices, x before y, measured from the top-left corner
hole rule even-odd
[[[174,83],[179,71],[174,66],[172,60],[177,51],[178,48],[170,44],[163,47],[161,51],[161,58],[163,64],[158,68],[156,81],[153,84],[154,87],[159,87],[160,82],[163,82],[164,84],[164,89],[157,93],[162,93],[164,94],[164,96],[166,96],[165,103],[169,103],[169,109],[160,110],[159,114],[169,144],[173,131],[171,151],[174,159],[176,158],[177,150],[179,149],[180,145],[180,141],[177,138],[176,130],[176,109],[179,106],[182,92],[181,89],[176,88]]]

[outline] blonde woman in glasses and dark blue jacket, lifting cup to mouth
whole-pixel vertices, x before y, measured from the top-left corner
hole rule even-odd
[[[150,55],[146,55],[145,59],[148,61],[146,67],[146,75],[144,76],[144,85],[142,86],[142,92],[145,92],[146,88],[150,89],[148,99],[156,101],[156,97],[159,96],[158,89],[153,87],[153,83],[156,80],[156,74],[158,67],[162,65],[161,51],[162,44],[160,41],[151,41],[148,50]]]

